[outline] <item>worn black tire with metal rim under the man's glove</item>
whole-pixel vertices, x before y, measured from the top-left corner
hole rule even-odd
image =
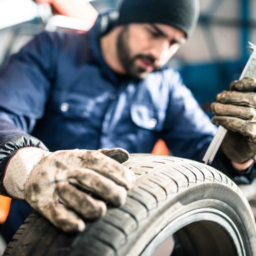
[[[124,165],[138,179],[123,207],[109,206],[78,234],[61,232],[33,212],[4,256],[150,256],[173,234],[172,255],[256,255],[252,211],[224,174],[172,156],[132,155]]]

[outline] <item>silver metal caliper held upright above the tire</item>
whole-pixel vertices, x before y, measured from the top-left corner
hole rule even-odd
[[[252,44],[251,42],[249,42],[248,44],[249,46],[247,48],[252,50],[252,54],[249,57],[239,80],[244,77],[250,77],[250,76],[256,77],[256,45]],[[204,155],[204,158],[203,158],[204,164],[212,164],[212,161],[218,149],[220,148],[220,144],[222,143],[226,133],[227,133],[227,129],[220,125],[215,136],[212,139],[211,144],[209,145]]]

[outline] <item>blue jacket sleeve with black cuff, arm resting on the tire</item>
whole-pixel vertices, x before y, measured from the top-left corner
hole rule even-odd
[[[29,135],[44,114],[54,74],[53,33],[43,32],[30,41],[0,70],[0,194],[5,164],[22,147],[47,149]]]

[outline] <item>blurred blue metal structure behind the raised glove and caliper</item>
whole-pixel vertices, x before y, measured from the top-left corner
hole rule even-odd
[[[180,72],[185,84],[192,90],[206,112],[208,112],[209,104],[215,100],[216,94],[223,90],[228,90],[232,80],[239,78],[249,56],[246,47],[250,37],[250,30],[255,26],[249,17],[249,10],[252,4],[250,0],[239,0],[240,17],[237,17],[236,20],[213,17],[222,2],[223,0],[212,0],[207,12],[201,13],[199,20],[199,24],[204,31],[205,40],[212,56],[214,56],[212,62],[210,64],[183,63],[180,65]],[[237,28],[240,32],[240,54],[238,59],[225,60],[220,56],[214,36],[209,28],[211,24]],[[228,41],[227,44],[229,44]]]

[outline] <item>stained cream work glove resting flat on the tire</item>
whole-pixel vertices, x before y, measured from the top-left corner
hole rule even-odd
[[[4,187],[56,227],[79,232],[85,228],[80,216],[91,220],[106,214],[103,200],[114,206],[125,203],[126,190],[135,181],[133,172],[120,164],[128,157],[122,148],[53,153],[22,148],[7,164]],[[91,193],[102,199],[93,198]]]

